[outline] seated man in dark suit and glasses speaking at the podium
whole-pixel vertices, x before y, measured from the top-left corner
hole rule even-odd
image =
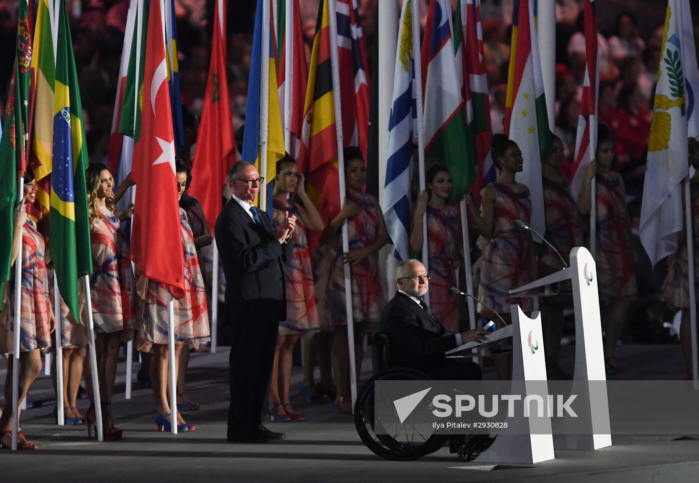
[[[437,380],[481,379],[480,367],[465,359],[447,359],[445,352],[487,332],[473,329],[445,336],[445,328],[423,301],[429,276],[418,260],[404,260],[396,268],[398,291],[381,314],[380,333],[387,336],[388,368],[413,368]]]

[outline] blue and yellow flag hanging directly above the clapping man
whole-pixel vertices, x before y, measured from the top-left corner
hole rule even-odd
[[[252,37],[252,63],[250,65],[250,79],[247,82],[247,109],[245,110],[245,136],[243,136],[243,159],[254,162],[257,171],[265,178],[267,184],[267,212],[272,216],[272,184],[277,175],[277,161],[282,159],[284,150],[284,128],[282,127],[282,111],[279,104],[279,92],[277,82],[277,59],[274,48],[274,22],[269,12],[264,7],[264,2],[272,0],[259,0],[257,13],[255,14],[255,29]],[[262,50],[262,38],[268,36],[269,49]],[[262,78],[262,63],[269,65],[269,76]],[[267,110],[264,110],[262,95],[262,82],[266,85]],[[261,146],[264,140],[267,143],[267,170],[263,173],[261,168]],[[259,201],[259,199],[258,199]]]

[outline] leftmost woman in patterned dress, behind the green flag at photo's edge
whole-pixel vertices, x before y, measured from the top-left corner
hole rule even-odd
[[[41,372],[41,351],[51,345],[51,333],[55,328],[53,310],[48,296],[48,277],[44,259],[45,245],[36,225],[27,217],[27,203],[36,201],[36,181],[31,169],[24,178],[24,198],[15,211],[12,264],[22,264],[22,297],[20,301],[20,385],[18,401],[27,396],[29,386]],[[21,237],[21,238],[20,238]],[[20,254],[20,240],[22,253]],[[2,312],[0,312],[0,347],[3,352],[14,353],[15,341],[15,268],[10,281],[3,284]],[[5,377],[5,408],[0,416],[0,447],[9,448],[12,443],[12,393],[14,357],[7,359]],[[17,435],[19,449],[36,449],[22,431]]]

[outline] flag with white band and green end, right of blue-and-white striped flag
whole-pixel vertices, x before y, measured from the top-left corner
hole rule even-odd
[[[449,168],[454,180],[451,203],[463,198],[475,175],[475,159],[467,145],[463,78],[454,52],[451,3],[431,0],[422,39],[425,155],[441,159]]]

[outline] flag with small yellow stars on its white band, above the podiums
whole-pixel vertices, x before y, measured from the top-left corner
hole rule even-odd
[[[547,150],[549,120],[544,97],[544,80],[534,23],[533,0],[515,0],[512,15],[512,54],[505,99],[505,136],[522,152],[524,171],[517,182],[529,188],[530,226],[544,235],[544,190],[541,152]]]

